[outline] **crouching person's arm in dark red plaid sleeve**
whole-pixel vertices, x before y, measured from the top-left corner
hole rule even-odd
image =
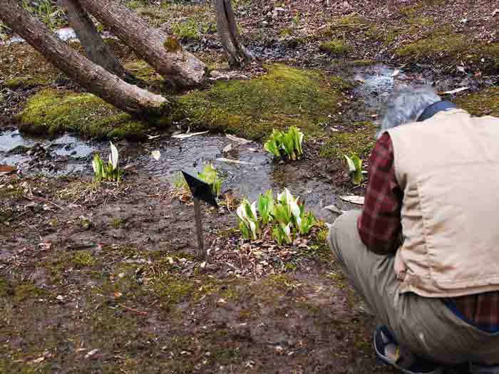
[[[364,209],[357,222],[361,240],[376,254],[392,254],[401,244],[403,192],[393,165],[393,146],[389,133],[374,145],[369,160],[369,185]]]

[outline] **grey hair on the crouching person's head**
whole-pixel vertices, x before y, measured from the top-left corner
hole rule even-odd
[[[376,137],[391,128],[415,122],[428,106],[440,100],[429,85],[398,85],[381,110],[381,129]]]

